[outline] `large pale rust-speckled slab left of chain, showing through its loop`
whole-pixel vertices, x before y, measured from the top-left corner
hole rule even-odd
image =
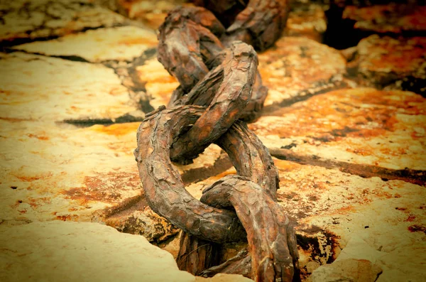
[[[0,120],[0,221],[102,222],[151,242],[177,234],[178,229],[156,215],[143,197],[133,156],[138,125],[75,128]],[[178,170],[190,183],[229,166],[221,149],[210,146]]]

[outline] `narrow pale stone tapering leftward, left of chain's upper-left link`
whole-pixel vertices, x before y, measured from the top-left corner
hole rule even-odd
[[[54,56],[77,56],[89,62],[105,60],[131,61],[144,51],[156,48],[155,33],[147,28],[121,26],[70,34],[55,40],[26,43],[14,47],[29,53]]]

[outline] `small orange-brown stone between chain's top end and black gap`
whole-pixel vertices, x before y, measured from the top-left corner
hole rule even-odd
[[[322,42],[327,29],[324,6],[319,4],[292,5],[288,13],[285,36],[302,36]]]

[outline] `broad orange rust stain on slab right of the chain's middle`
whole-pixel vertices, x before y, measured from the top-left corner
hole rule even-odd
[[[261,123],[261,118],[249,124],[249,128],[255,133],[261,131],[258,134],[263,136],[306,136],[322,142],[339,141],[345,137],[371,139],[395,131],[400,122],[397,114],[426,114],[426,100],[420,95],[400,92],[336,90],[273,114],[284,118],[268,126]]]

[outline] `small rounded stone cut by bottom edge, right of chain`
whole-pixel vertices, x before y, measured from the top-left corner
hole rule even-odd
[[[312,282],[374,282],[381,268],[362,259],[344,259],[321,266],[312,272]]]

